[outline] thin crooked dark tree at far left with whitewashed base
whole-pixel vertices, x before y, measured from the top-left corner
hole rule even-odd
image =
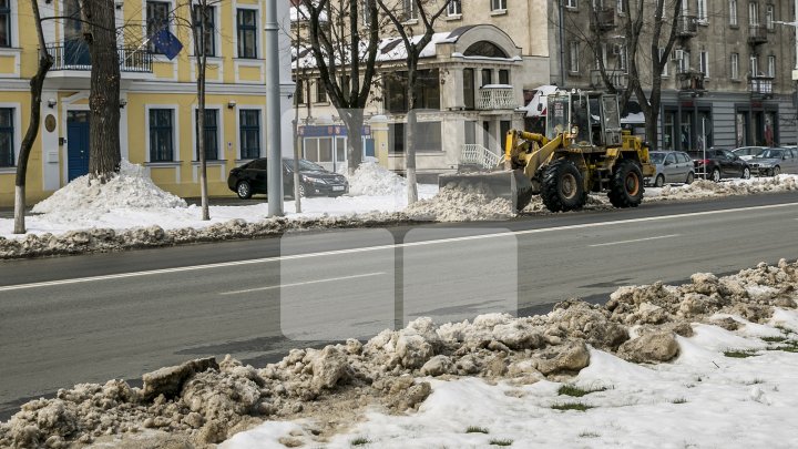
[[[44,32],[42,30],[42,19],[39,13],[39,2],[32,0],[30,2],[33,10],[33,21],[39,39],[39,64],[37,72],[30,81],[31,93],[31,111],[28,131],[22,139],[20,145],[19,159],[17,161],[17,177],[14,180],[14,234],[25,233],[24,210],[25,210],[25,178],[28,176],[28,160],[30,159],[33,142],[39,134],[39,124],[41,121],[41,94],[44,85],[44,78],[53,64],[53,58],[47,51],[44,42]]]

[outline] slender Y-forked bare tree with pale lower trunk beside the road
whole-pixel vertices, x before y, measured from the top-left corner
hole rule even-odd
[[[419,59],[421,59],[421,51],[432,41],[436,22],[447,10],[451,0],[407,0],[405,9],[397,9],[393,3],[386,4],[385,0],[377,0],[377,2],[382,12],[390,19],[391,23],[393,23],[397,33],[399,33],[399,37],[405,43],[407,52],[408,123],[405,140],[405,161],[408,182],[408,204],[412,204],[418,201],[415,133],[418,125],[418,116],[416,115],[416,104],[418,102],[418,90],[416,89],[418,64]],[[412,18],[412,14],[416,14],[422,24],[423,33],[418,39],[413,35],[413,29],[405,24],[408,19]]]

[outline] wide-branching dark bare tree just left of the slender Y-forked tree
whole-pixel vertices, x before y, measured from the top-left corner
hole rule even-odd
[[[308,22],[309,49],[332,105],[347,129],[349,174],[362,161],[364,109],[375,79],[380,38],[377,0],[301,0],[299,11]],[[368,37],[360,35],[365,13]]]

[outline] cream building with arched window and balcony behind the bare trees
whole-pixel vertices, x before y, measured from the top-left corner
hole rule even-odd
[[[361,2],[361,8],[362,8]],[[423,32],[415,2],[399,1],[403,24]],[[430,8],[432,10],[433,8]],[[362,9],[361,9],[362,10]],[[419,178],[457,169],[463,149],[499,154],[504,133],[523,126],[524,90],[550,80],[546,4],[541,1],[452,1],[436,24],[420,61],[417,137]],[[301,13],[295,14],[301,27]],[[330,20],[336,20],[330,18]],[[380,42],[380,76],[367,108],[366,155],[397,172],[405,170],[407,70],[405,49],[390,27]],[[303,33],[300,32],[300,35]],[[331,108],[313,61],[295,61],[303,84],[298,95],[304,154],[332,166],[345,157],[347,136]],[[375,135],[387,129],[381,142]]]

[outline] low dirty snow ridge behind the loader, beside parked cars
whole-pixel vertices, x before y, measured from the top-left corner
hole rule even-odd
[[[719,183],[696,180],[693,184],[646,188],[646,200],[697,200],[713,196],[753,195],[757,193],[798,191],[798,175],[732,180]]]

